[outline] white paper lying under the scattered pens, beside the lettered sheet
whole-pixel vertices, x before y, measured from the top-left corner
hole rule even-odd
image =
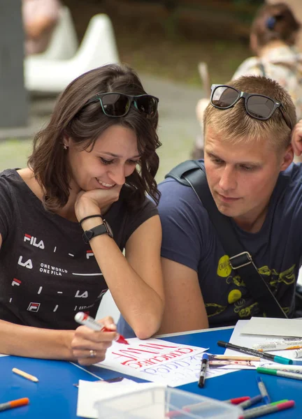
[[[278,318],[278,320],[282,320]],[[286,319],[285,319],[286,320]],[[231,335],[230,343],[238,346],[245,346],[245,348],[252,348],[254,344],[261,344],[266,341],[271,341],[271,335],[246,335],[243,334],[243,330],[245,330],[247,323],[249,320],[239,320],[233,330]],[[302,323],[300,323],[302,326]],[[275,336],[275,339],[282,339],[282,337]],[[273,353],[274,355],[283,356],[284,358],[289,358],[291,360],[296,360],[294,358],[294,351],[267,351],[268,353]],[[232,349],[226,349],[225,355],[244,355],[238,351],[233,351]],[[261,360],[261,362],[265,362],[266,364],[269,362],[268,360]],[[275,363],[275,362],[273,362]],[[255,364],[257,365],[257,364]]]

